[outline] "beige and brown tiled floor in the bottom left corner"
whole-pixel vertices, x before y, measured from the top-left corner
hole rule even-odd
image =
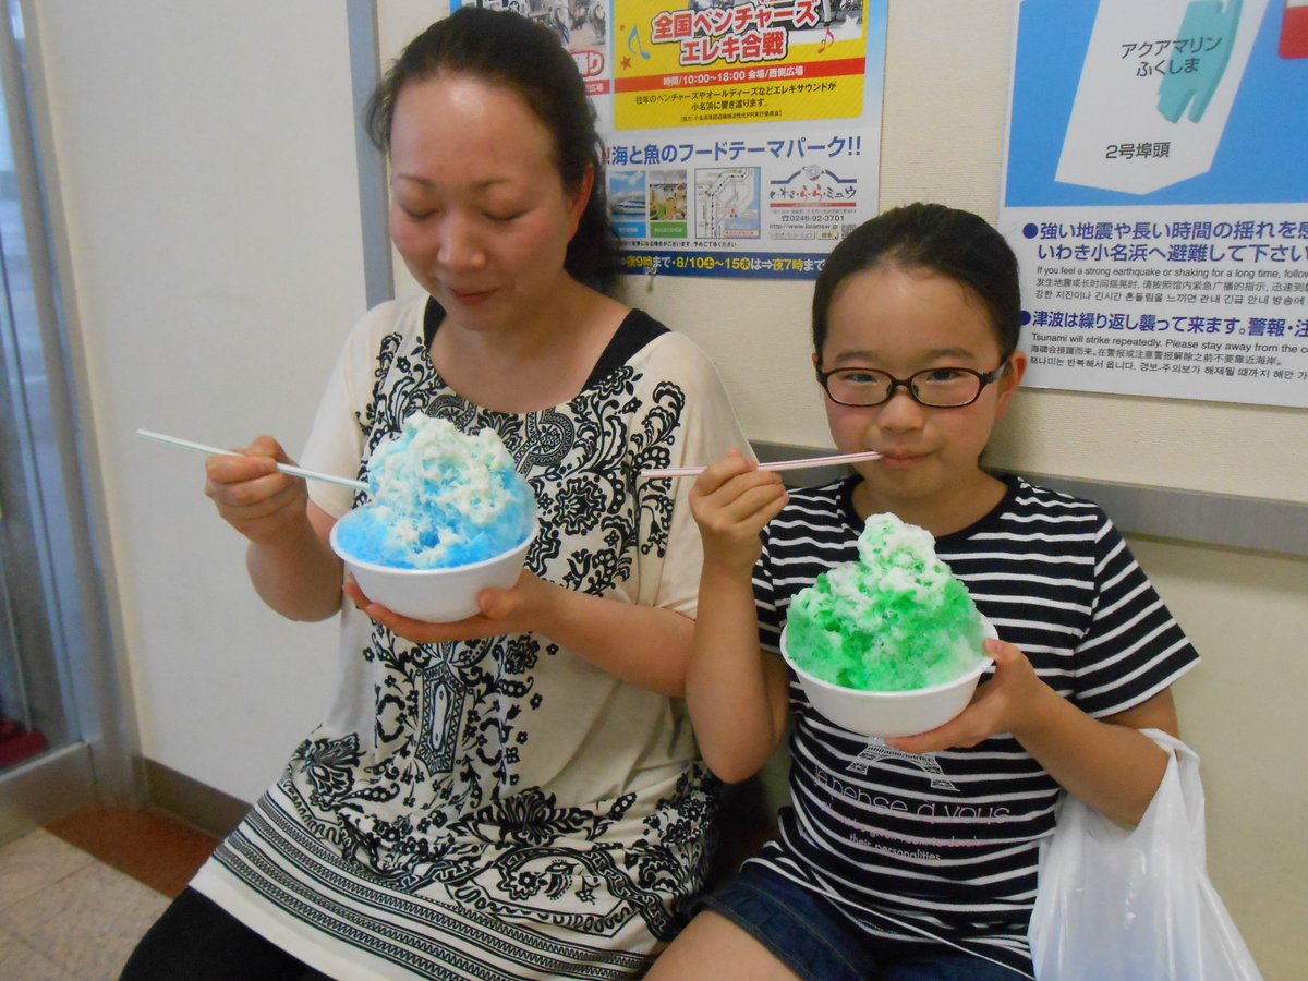
[[[116,978],[215,844],[152,811],[92,808],[0,848],[0,978]]]

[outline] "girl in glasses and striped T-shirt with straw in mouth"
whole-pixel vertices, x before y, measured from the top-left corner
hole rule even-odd
[[[1029,976],[1059,791],[1124,821],[1148,806],[1165,757],[1137,730],[1176,732],[1168,688],[1197,655],[1099,508],[981,468],[1027,366],[1019,317],[1015,256],[977,216],[869,221],[818,279],[814,366],[836,446],[883,459],[789,496],[738,454],[696,481],[691,718],[727,781],[793,721],[791,806],[650,977]],[[1001,637],[960,715],[888,740],[819,715],[777,647],[794,595],[882,511],[935,535]]]

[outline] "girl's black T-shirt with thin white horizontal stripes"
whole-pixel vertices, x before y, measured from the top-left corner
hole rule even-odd
[[[794,595],[857,559],[857,479],[791,493],[755,569],[763,646]],[[1139,705],[1198,655],[1096,505],[1007,479],[999,505],[937,540],[999,637],[1092,717]],[[986,679],[982,678],[982,681]],[[943,939],[1031,971],[1039,842],[1059,786],[1007,735],[914,756],[828,722],[791,676],[791,807],[760,858],[878,935]]]

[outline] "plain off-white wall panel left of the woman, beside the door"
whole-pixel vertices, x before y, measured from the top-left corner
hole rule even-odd
[[[242,799],[320,713],[330,624],[264,610],[203,460],[292,454],[364,309],[341,4],[42,3],[78,336],[141,752]]]

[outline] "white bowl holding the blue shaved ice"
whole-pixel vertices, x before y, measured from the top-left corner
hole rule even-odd
[[[358,587],[374,603],[381,603],[402,616],[433,624],[466,620],[480,612],[477,594],[484,589],[510,589],[522,573],[527,548],[536,536],[531,534],[517,548],[467,565],[447,569],[398,569],[354,559],[344,552],[332,526],[331,547],[345,562]]]

